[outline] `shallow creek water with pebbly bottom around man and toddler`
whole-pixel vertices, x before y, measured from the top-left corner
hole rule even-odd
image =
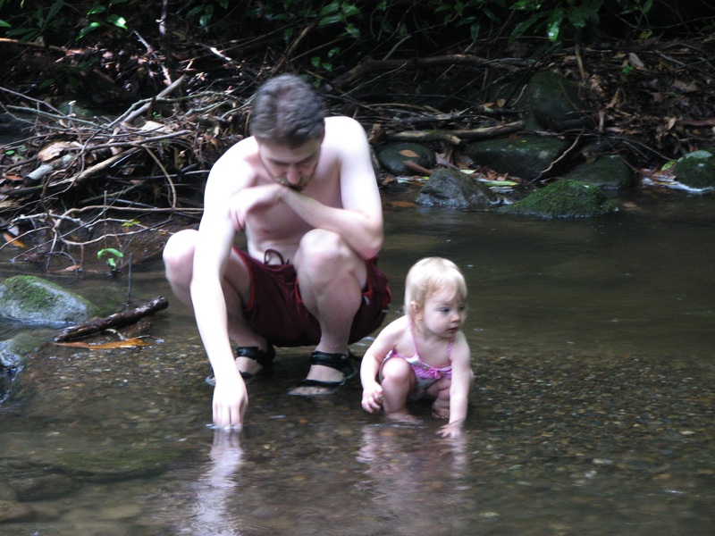
[[[214,432],[198,332],[154,263],[135,268],[133,296],[169,298],[149,331],[161,342],[49,347],[0,406],[0,500],[28,507],[0,533],[712,534],[711,198],[598,221],[395,210],[385,222],[388,321],[422,256],[467,276],[476,381],[463,439],[437,438],[428,406],[413,426],[367,415],[357,380],[287,396],[310,348],[280,349],[273,379],[249,386],[242,434]],[[95,300],[126,292],[122,277],[61,282]],[[147,453],[156,465],[122,478],[92,470],[103,454]],[[63,492],[34,499],[48,474]]]

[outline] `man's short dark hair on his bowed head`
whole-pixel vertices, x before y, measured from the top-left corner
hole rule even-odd
[[[323,100],[305,80],[282,74],[258,88],[250,131],[259,142],[300,147],[323,129]]]

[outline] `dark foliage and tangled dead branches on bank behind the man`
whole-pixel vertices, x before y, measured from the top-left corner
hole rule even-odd
[[[195,217],[250,96],[282,71],[374,145],[439,130],[424,139],[453,161],[464,136],[517,128],[523,85],[556,71],[596,125],[585,157],[661,165],[712,137],[714,15],[708,0],[0,0],[0,135],[14,136],[0,228],[31,236],[27,258],[81,267],[84,247],[125,252]]]

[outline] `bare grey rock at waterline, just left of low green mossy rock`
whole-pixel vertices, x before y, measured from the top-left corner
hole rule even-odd
[[[437,170],[420,188],[416,204],[444,208],[484,209],[499,203],[499,198],[468,175],[456,170]]]

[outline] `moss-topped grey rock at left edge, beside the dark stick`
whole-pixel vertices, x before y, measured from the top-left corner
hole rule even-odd
[[[87,299],[33,275],[15,275],[0,284],[0,316],[14,321],[59,326],[97,314]]]

